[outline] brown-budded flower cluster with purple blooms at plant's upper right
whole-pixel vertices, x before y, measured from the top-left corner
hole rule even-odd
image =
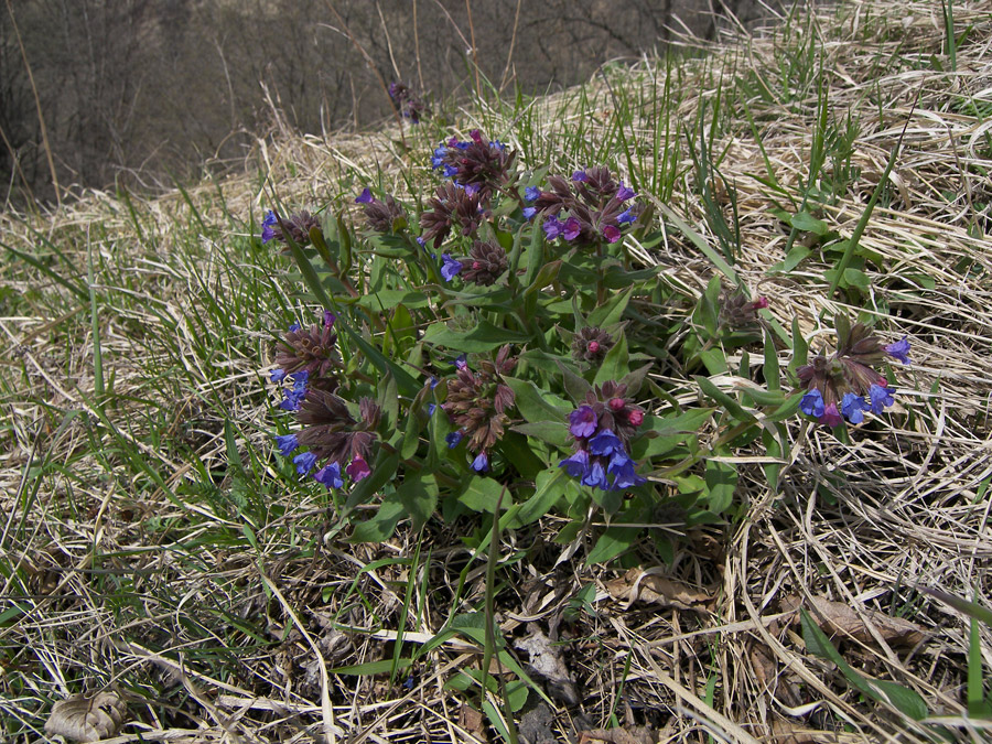
[[[636,194],[617,183],[603,166],[575,171],[571,183],[560,175],[548,177],[549,191],[533,196],[533,208],[544,216],[543,229],[549,240],[589,246],[605,239],[616,242],[624,226],[637,219],[636,204],[627,205]],[[564,219],[562,219],[564,217]]]

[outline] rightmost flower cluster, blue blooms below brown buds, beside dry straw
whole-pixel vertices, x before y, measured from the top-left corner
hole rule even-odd
[[[863,323],[852,326],[839,315],[835,324],[837,352],[830,357],[820,353],[796,370],[800,389],[807,390],[799,410],[828,427],[838,427],[844,419],[861,423],[865,411],[881,413],[892,406],[895,388],[888,387],[888,380],[874,367],[886,357],[909,364],[906,336],[886,345]]]

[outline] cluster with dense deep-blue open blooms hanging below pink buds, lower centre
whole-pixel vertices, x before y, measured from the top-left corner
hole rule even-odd
[[[585,402],[569,414],[575,452],[558,466],[584,486],[623,490],[646,481],[637,475],[637,463],[627,454],[630,436],[644,422],[644,411],[624,397],[626,392],[623,384],[604,382],[590,390]]]

